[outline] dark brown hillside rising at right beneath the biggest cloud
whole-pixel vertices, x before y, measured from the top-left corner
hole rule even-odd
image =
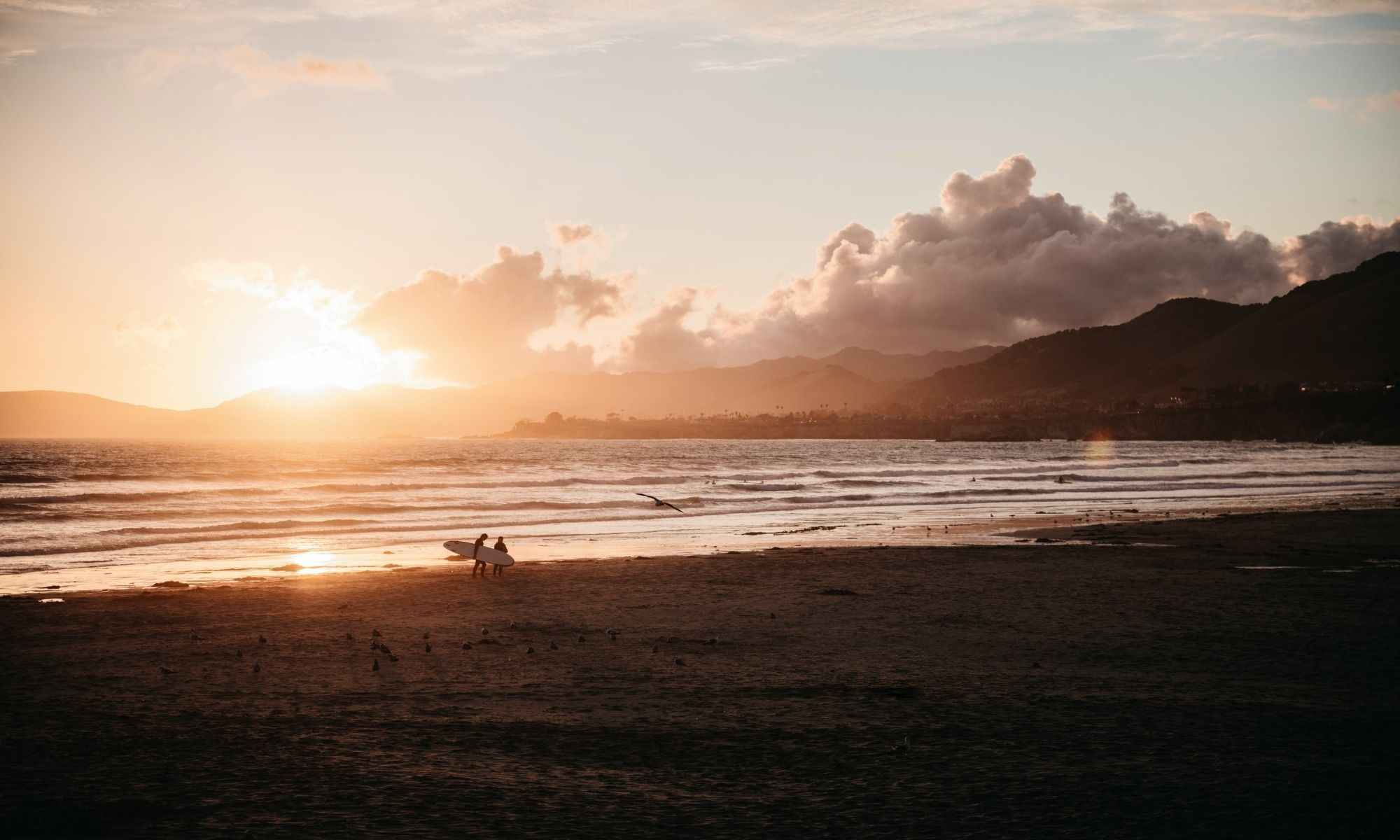
[[[1267,304],[1180,298],[1116,326],[1070,329],[939,371],[892,402],[1109,399],[1182,386],[1361,382],[1400,372],[1400,253],[1299,286]]]

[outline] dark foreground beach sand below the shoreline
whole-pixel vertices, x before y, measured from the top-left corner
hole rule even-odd
[[[1400,511],[1078,536],[0,599],[0,834],[1393,836]]]

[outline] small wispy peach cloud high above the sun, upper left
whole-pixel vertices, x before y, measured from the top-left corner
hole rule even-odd
[[[244,43],[223,50],[144,49],[130,60],[136,80],[160,85],[185,67],[217,67],[244,81],[253,95],[269,95],[294,85],[386,90],[388,80],[370,63],[297,56],[284,62]]]

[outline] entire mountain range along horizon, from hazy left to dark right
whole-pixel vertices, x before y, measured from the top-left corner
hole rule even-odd
[[[169,410],[84,393],[0,392],[0,437],[372,438],[494,434],[550,412],[581,417],[787,413],[987,399],[1156,398],[1232,385],[1393,382],[1400,252],[1267,304],[1177,298],[1120,325],[1011,347],[764,360],[676,372],[538,374],[477,388],[259,391]]]

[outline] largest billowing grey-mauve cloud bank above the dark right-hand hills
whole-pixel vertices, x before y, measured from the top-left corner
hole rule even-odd
[[[923,353],[1012,343],[1119,323],[1173,297],[1266,301],[1400,249],[1400,221],[1327,223],[1275,245],[1207,211],[1173,221],[1126,193],[1100,217],[1058,193],[1033,195],[1035,175],[1029,158],[1012,155],[980,176],[955,174],[939,207],[899,216],[883,234],[848,224],[818,249],[811,274],[752,311],[700,312],[694,290],[678,290],[610,364],[673,370],[853,344]]]

